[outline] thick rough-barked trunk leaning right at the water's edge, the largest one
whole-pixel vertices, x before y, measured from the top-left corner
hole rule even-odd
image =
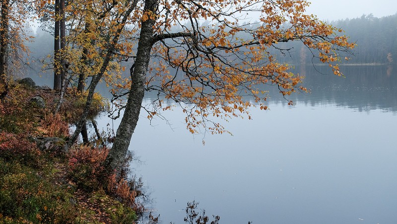
[[[144,11],[155,12],[157,10],[157,5],[157,0],[145,0]],[[126,109],[120,126],[117,129],[113,147],[106,158],[107,168],[116,170],[118,173],[121,171],[131,142],[132,133],[139,119],[139,112],[145,91],[145,77],[150,60],[150,51],[153,46],[154,22],[153,19],[147,19],[142,22],[134,68],[130,70],[132,84]]]

